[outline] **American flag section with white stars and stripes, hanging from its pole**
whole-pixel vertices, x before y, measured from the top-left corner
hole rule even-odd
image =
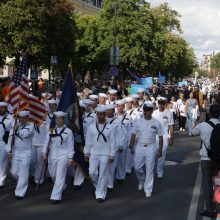
[[[14,114],[22,111],[28,106],[29,86],[27,76],[27,56],[24,56],[17,69],[14,71],[12,80],[9,84],[10,101]]]

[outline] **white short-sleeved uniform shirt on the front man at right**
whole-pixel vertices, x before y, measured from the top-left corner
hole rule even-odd
[[[138,147],[154,144],[156,142],[156,136],[158,135],[160,137],[163,135],[163,128],[161,123],[154,118],[151,120],[141,118],[134,124],[132,133],[136,135]]]

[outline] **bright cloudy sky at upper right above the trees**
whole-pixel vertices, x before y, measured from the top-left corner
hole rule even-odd
[[[195,50],[198,61],[204,54],[220,51],[220,0],[148,0],[152,7],[167,2],[181,15],[183,37]]]

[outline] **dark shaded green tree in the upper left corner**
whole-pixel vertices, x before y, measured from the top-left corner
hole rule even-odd
[[[74,54],[74,17],[66,0],[7,0],[0,4],[0,56],[18,61],[27,48],[30,64],[63,66]],[[68,60],[68,61],[67,61]]]

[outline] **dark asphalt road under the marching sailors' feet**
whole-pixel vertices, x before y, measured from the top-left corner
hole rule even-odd
[[[0,191],[0,219],[187,220],[198,173],[199,145],[199,138],[176,133],[174,146],[167,154],[164,178],[155,179],[151,198],[137,190],[134,174],[124,185],[116,185],[101,204],[93,197],[90,182],[84,183],[80,191],[69,186],[59,205],[49,201],[51,183],[38,191],[30,185],[27,197],[21,201],[15,199],[15,186],[11,185]]]

